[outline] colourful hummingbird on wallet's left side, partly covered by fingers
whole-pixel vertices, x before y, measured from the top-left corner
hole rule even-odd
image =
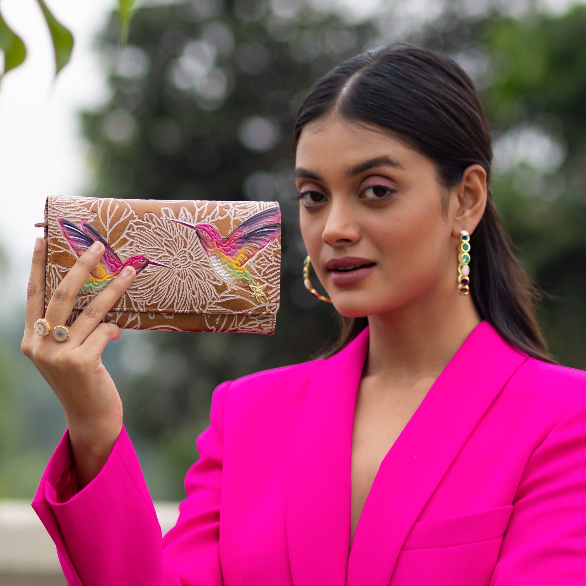
[[[127,258],[123,263],[110,244],[104,240],[104,237],[90,223],[82,221],[80,222],[80,227],[77,227],[73,222],[65,218],[57,218],[57,222],[59,222],[64,239],[67,240],[67,244],[69,244],[69,247],[78,258],[96,240],[104,245],[104,255],[97,267],[91,271],[86,282],[81,285],[80,295],[92,295],[101,291],[108,283],[114,280],[114,277],[124,267],[134,267],[137,274],[145,270],[149,264],[155,265],[156,267],[172,268],[166,264],[155,263],[155,261],[149,260],[144,254],[135,254]]]

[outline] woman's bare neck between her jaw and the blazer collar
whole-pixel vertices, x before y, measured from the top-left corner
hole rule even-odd
[[[436,379],[480,322],[472,297],[455,287],[443,294],[428,290],[409,306],[369,316],[364,375],[406,384]]]

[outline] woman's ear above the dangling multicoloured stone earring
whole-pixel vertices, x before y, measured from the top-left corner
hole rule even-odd
[[[486,207],[486,171],[481,165],[466,167],[461,182],[455,188],[458,206],[454,215],[453,236],[460,237],[460,230],[472,234]]]

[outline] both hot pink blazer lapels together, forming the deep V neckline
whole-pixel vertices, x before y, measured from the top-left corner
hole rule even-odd
[[[353,418],[368,336],[366,328],[320,364],[299,413],[286,496],[295,586],[388,586],[413,523],[527,359],[488,322],[473,329],[381,462],[350,550]]]

